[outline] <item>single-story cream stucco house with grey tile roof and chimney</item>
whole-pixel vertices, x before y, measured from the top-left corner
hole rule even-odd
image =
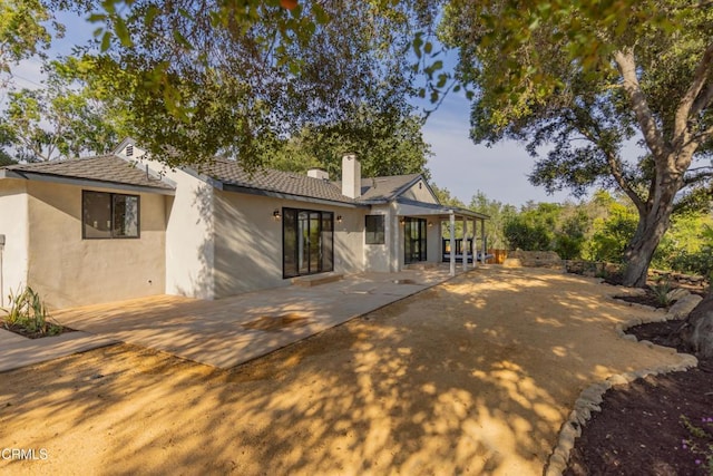
[[[339,182],[319,169],[251,175],[222,158],[168,169],[127,139],[110,155],[2,167],[1,304],[25,284],[53,308],[219,299],[437,263],[456,221],[482,233],[487,216],[440,205],[421,175],[362,178],[354,155],[342,166]]]

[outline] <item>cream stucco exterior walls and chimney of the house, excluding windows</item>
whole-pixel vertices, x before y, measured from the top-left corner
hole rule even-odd
[[[127,147],[133,147],[130,157]],[[0,179],[0,234],[6,235],[0,292],[6,300],[10,290],[26,284],[53,308],[163,293],[212,300],[290,285],[281,220],[290,208],[333,214],[335,273],[402,270],[406,217],[426,221],[426,261],[442,261],[441,221],[453,212],[438,204],[423,178],[403,176],[408,188],[389,200],[311,198],[169,169],[127,142],[116,154],[175,192],[166,186],[167,192],[152,193],[153,184],[128,192],[97,181]],[[346,156],[344,167],[342,195],[358,197],[363,185],[359,161]],[[82,191],[138,195],[139,237],[85,239]],[[383,243],[365,244],[367,215],[384,217]]]

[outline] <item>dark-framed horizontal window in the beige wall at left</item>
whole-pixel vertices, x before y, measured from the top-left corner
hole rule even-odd
[[[82,237],[138,237],[138,195],[82,191]]]

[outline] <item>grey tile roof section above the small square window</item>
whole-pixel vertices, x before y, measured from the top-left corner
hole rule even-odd
[[[47,176],[106,182],[107,184],[134,185],[162,190],[175,188],[156,177],[147,176],[146,172],[137,168],[133,163],[115,155],[17,164],[2,168],[17,173],[25,172]]]

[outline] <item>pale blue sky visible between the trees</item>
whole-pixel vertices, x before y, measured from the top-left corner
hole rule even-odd
[[[67,26],[67,36],[53,41],[51,56],[70,54],[71,47],[90,38],[96,28],[76,17],[62,16],[60,20]],[[37,59],[23,61],[16,69],[19,87],[39,87],[41,77]],[[422,104],[417,106],[422,107]],[[518,207],[528,201],[561,203],[572,200],[567,193],[548,195],[543,187],[528,182],[534,159],[524,144],[502,142],[490,148],[475,145],[469,138],[469,116],[468,99],[451,93],[427,120],[423,137],[433,153],[427,164],[431,183],[447,188],[465,204],[469,204],[479,191],[489,200]]]

